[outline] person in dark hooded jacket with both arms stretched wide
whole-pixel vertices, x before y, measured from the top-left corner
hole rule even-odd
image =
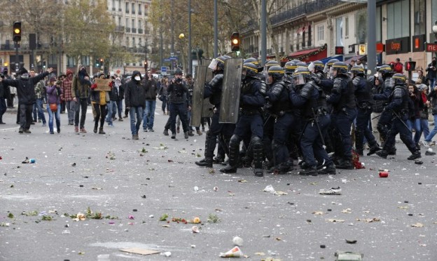
[[[29,77],[29,72],[27,72],[27,69],[22,68],[19,72],[19,78],[15,80],[3,80],[3,84],[5,86],[14,86],[17,88],[18,101],[20,103],[20,107],[18,108],[20,112],[20,129],[18,133],[31,133],[29,128],[33,120],[32,109],[34,107],[34,103],[36,102],[35,84],[44,79],[44,77],[48,76],[48,74],[50,74],[52,71],[53,68],[50,67],[46,72],[38,74],[38,76]]]

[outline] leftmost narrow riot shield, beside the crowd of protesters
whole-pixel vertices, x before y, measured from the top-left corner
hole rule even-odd
[[[195,67],[195,81],[193,86],[193,102],[191,104],[190,126],[200,126],[204,103],[203,91],[206,83],[207,70],[207,66],[197,65]]]

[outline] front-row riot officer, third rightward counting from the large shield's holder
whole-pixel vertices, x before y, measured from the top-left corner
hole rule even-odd
[[[310,79],[307,68],[297,68],[293,74],[295,89],[290,92],[293,107],[300,108],[304,121],[300,137],[300,149],[305,163],[300,175],[335,174],[335,166],[328,156],[324,145],[324,136],[331,123],[327,112],[324,91]],[[316,161],[317,160],[317,161]],[[326,168],[324,168],[324,166]]]

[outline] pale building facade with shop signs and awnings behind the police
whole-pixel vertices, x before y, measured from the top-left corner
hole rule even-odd
[[[432,26],[437,20],[437,0],[377,0],[375,13],[377,62],[389,63],[396,58],[402,62],[412,59],[416,68],[423,69],[432,53],[425,43],[435,41]],[[272,32],[279,58],[275,57],[273,41],[267,39],[267,56],[285,62],[299,59],[327,61],[340,58],[366,60],[367,4],[341,0],[277,1],[277,11],[270,14]],[[256,22],[248,21],[242,30],[245,53],[261,54],[260,31]]]

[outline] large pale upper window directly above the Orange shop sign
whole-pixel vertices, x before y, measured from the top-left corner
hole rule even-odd
[[[410,36],[410,1],[387,4],[387,39]]]

